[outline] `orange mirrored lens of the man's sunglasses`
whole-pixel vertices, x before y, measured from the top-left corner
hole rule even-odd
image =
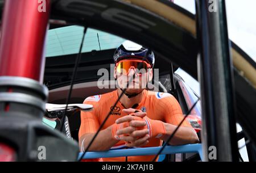
[[[141,61],[121,61],[117,66],[117,72],[127,74],[129,73],[129,69],[131,67],[134,67],[137,73],[147,72],[146,62],[141,62]]]

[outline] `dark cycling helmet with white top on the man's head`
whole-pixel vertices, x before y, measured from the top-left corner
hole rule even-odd
[[[147,61],[151,67],[154,67],[155,64],[155,56],[151,50],[130,40],[124,41],[122,45],[115,50],[113,58],[115,63],[128,58],[136,58]]]

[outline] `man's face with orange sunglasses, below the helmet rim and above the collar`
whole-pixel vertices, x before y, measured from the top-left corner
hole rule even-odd
[[[136,65],[134,66],[137,67]],[[146,88],[147,82],[152,79],[152,69],[148,68],[149,66],[145,68],[145,66],[139,65],[141,69],[136,69],[134,66],[127,67],[126,65],[121,66],[120,64],[115,66],[114,76],[117,78],[118,86],[127,88],[127,92],[143,90]]]

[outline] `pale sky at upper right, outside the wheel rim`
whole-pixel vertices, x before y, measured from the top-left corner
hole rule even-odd
[[[225,2],[229,38],[256,61],[256,1],[226,0]],[[195,14],[195,1],[175,0],[174,3]]]

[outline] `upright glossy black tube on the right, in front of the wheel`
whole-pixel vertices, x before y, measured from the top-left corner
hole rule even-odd
[[[196,18],[204,161],[238,161],[233,68],[224,1],[196,0]],[[210,146],[216,147],[216,159],[214,155],[209,158],[213,151]]]

